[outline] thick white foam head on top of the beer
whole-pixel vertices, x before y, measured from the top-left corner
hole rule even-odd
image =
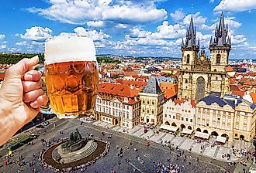
[[[46,64],[71,61],[96,61],[92,39],[85,36],[56,36],[45,42]]]

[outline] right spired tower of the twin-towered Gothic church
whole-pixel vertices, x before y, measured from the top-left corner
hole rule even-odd
[[[224,15],[221,13],[220,23],[216,25],[214,39],[211,37],[209,50],[211,53],[211,69],[213,72],[226,72],[231,49],[231,39],[227,36],[228,26],[225,26]]]

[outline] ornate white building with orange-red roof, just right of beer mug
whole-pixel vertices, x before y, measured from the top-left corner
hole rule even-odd
[[[95,119],[133,128],[140,122],[138,91],[124,84],[101,83],[95,102]]]

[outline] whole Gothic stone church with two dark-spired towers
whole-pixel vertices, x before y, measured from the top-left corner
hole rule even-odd
[[[209,43],[210,59],[204,50],[199,51],[199,39],[191,18],[185,42],[182,40],[182,69],[178,83],[178,98],[199,101],[209,93],[223,96],[230,93],[227,63],[231,49],[228,27],[223,13],[216,25],[215,36]]]

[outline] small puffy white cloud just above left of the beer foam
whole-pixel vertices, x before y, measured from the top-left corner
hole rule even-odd
[[[22,39],[31,40],[44,40],[52,37],[52,30],[49,28],[43,28],[41,26],[33,26],[30,29],[26,29],[24,35],[20,35]]]

